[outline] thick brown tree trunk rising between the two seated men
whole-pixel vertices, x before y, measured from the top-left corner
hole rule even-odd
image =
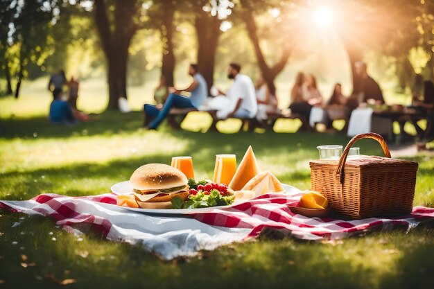
[[[214,67],[221,20],[202,10],[196,12],[194,26],[198,38],[198,67],[207,81],[208,90],[214,85]]]

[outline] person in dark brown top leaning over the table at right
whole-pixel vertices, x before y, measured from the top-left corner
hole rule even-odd
[[[365,62],[356,62],[356,73],[361,78],[360,87],[361,93],[360,103],[368,103],[368,100],[374,100],[376,104],[383,105],[385,103],[381,88],[376,81],[367,74],[367,65]]]

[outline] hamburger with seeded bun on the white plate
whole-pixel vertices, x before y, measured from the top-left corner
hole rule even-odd
[[[184,173],[166,164],[146,164],[130,177],[134,198],[143,209],[171,209],[173,198],[186,200],[187,181]]]

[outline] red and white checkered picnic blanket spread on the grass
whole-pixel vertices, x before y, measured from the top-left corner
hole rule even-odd
[[[103,238],[141,243],[166,260],[255,238],[265,228],[278,229],[302,240],[329,240],[394,227],[411,229],[420,222],[434,220],[434,208],[426,207],[415,207],[413,213],[402,218],[307,218],[287,207],[297,205],[304,192],[291,186],[285,189],[285,194],[261,195],[230,209],[213,209],[189,216],[134,213],[116,206],[114,193],[85,197],[47,193],[26,201],[0,201],[0,208],[49,216],[56,225],[76,234],[92,229]]]

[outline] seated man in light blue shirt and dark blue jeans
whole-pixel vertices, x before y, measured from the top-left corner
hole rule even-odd
[[[199,73],[197,64],[190,64],[189,75],[193,77],[191,85],[185,89],[170,87],[169,91],[171,91],[171,94],[169,94],[161,110],[158,110],[155,105],[144,105],[146,129],[156,130],[162,121],[164,121],[172,107],[198,109],[207,99],[207,82]],[[190,97],[182,96],[182,91],[190,92]]]

